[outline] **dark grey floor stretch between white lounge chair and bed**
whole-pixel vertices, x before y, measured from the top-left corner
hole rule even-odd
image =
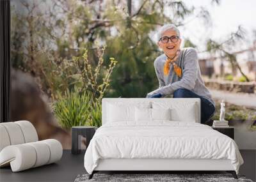
[[[59,162],[26,171],[12,172],[10,167],[0,169],[0,181],[74,181],[78,174],[86,173],[84,153],[72,155],[64,150]]]

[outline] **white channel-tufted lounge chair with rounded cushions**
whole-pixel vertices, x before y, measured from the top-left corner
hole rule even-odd
[[[11,165],[13,172],[56,162],[63,149],[55,139],[38,141],[29,121],[0,123],[0,167]]]

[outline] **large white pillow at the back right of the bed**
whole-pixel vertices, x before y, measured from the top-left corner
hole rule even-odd
[[[196,122],[198,114],[195,104],[195,102],[179,102],[179,100],[173,100],[172,102],[152,102],[152,107],[154,109],[170,108],[172,121]]]

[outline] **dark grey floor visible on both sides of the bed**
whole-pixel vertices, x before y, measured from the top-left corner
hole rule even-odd
[[[246,178],[256,179],[256,150],[241,150],[244,164],[239,174]],[[10,167],[0,169],[0,181],[74,181],[78,174],[86,173],[83,165],[84,152],[72,155],[69,150],[63,151],[61,160],[57,163],[28,169],[22,172],[12,172]],[[211,172],[212,173],[212,172]]]

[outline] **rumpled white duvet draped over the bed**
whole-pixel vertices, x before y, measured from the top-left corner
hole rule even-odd
[[[243,164],[233,139],[210,126],[179,121],[106,123],[86,149],[86,171],[92,174],[99,159],[105,158],[229,159],[237,174]]]

